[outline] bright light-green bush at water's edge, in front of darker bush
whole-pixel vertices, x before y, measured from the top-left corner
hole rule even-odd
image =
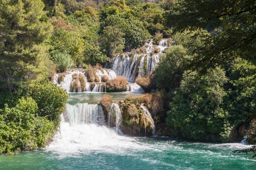
[[[44,147],[53,136],[53,123],[37,117],[37,103],[21,98],[15,107],[0,110],[0,153],[17,153]]]

